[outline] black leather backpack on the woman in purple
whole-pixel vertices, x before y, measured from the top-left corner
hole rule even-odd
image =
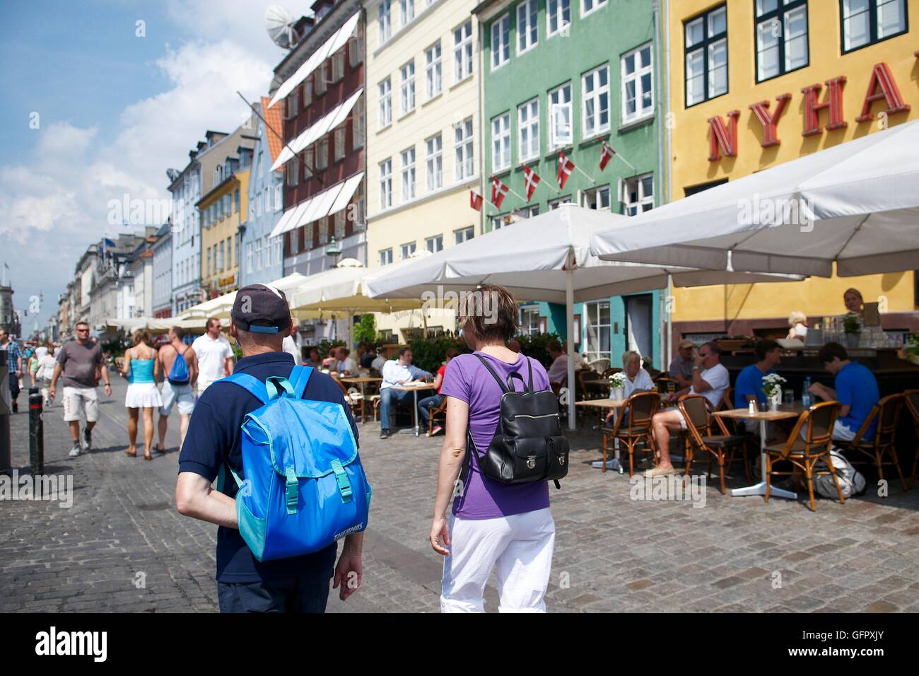
[[[504,394],[498,427],[483,455],[476,451],[472,434],[467,431],[466,461],[459,477],[461,487],[466,485],[474,455],[482,475],[502,484],[552,480],[560,488],[558,480],[568,474],[568,440],[562,436],[558,399],[551,390],[533,391],[533,364],[529,358],[529,383],[515,371],[507,375],[505,384],[482,355],[475,356]],[[522,392],[514,389],[515,378],[524,385]]]

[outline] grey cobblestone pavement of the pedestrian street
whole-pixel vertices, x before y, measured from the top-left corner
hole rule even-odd
[[[44,414],[46,474],[73,475],[70,509],[0,502],[0,612],[214,612],[216,527],[175,509],[177,416],[169,453],[129,458],[126,385],[102,395],[95,450],[71,459],[62,408]],[[101,394],[101,391],[100,391]],[[20,395],[25,410],[26,393]],[[11,418],[13,467],[28,471],[28,413]],[[427,544],[440,441],[379,439],[361,427],[373,504],[364,582],[330,612],[437,612],[441,559]],[[572,437],[572,466],[551,488],[557,528],[547,604],[556,612],[919,611],[919,488],[840,505],[721,496],[705,506],[630,498],[628,475],[590,467],[599,437]],[[739,464],[730,484],[743,486]],[[144,585],[136,586],[138,574]],[[496,610],[494,578],[486,607]]]

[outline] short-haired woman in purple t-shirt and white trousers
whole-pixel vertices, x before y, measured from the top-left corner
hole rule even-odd
[[[510,372],[527,378],[529,361],[533,389],[550,389],[549,376],[539,361],[505,347],[516,332],[516,314],[514,297],[494,285],[480,287],[459,308],[463,338],[476,354],[451,360],[440,389],[447,397],[447,433],[440,452],[430,539],[434,551],[446,556],[440,595],[443,613],[483,613],[482,594],[495,567],[500,611],[546,610],[543,597],[555,547],[549,485],[534,481],[508,486],[483,476],[478,465],[497,429],[503,393],[476,355],[482,355],[505,380]],[[466,456],[467,430],[479,455],[472,460],[463,487],[456,484]]]

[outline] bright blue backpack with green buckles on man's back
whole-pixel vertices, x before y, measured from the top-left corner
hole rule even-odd
[[[367,528],[370,485],[351,423],[340,404],[301,398],[311,374],[294,366],[289,379],[223,379],[265,404],[243,421],[245,481],[227,465],[239,532],[259,561],[318,552]]]

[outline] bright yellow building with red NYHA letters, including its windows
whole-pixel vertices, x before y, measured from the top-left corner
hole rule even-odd
[[[663,6],[669,200],[919,115],[919,0],[664,0]],[[903,271],[676,289],[674,333],[782,333],[792,311],[811,319],[845,312],[849,287],[886,309],[885,328],[915,330],[916,283],[914,271]]]

